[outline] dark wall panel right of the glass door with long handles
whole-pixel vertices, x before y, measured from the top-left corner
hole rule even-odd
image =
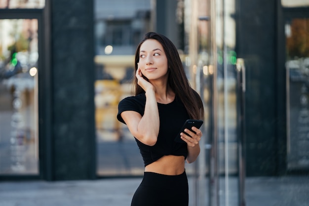
[[[239,0],[237,54],[246,67],[246,174],[275,175],[276,0]]]

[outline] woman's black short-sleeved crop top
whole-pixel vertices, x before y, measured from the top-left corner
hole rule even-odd
[[[126,97],[118,104],[117,119],[124,123],[121,113],[124,111],[135,111],[144,115],[146,104],[145,93],[137,96]],[[188,148],[186,143],[175,142],[174,139],[181,129],[182,125],[189,119],[188,112],[183,103],[175,97],[174,101],[168,104],[158,105],[159,111],[159,133],[154,146],[143,144],[135,138],[137,145],[142,154],[144,165],[147,166],[164,155],[188,156]]]

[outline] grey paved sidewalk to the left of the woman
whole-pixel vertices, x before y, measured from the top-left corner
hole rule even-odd
[[[0,206],[130,206],[140,181],[0,182]]]

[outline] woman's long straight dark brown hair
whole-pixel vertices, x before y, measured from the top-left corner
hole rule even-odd
[[[138,68],[137,63],[140,58],[140,47],[143,42],[150,39],[160,42],[165,51],[167,65],[169,67],[168,85],[175,92],[176,97],[185,105],[191,119],[203,119],[204,108],[202,100],[191,87],[180,60],[179,53],[173,42],[167,37],[154,32],[145,34],[144,39],[138,44],[135,52],[135,72]],[[134,88],[135,95],[145,92],[144,89],[138,85],[136,77],[134,80]]]

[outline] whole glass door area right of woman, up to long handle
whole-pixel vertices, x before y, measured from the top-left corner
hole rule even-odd
[[[185,2],[190,13],[186,62],[205,107],[205,138],[193,167],[193,205],[238,206],[243,202],[244,63],[237,62],[235,52],[235,0]]]

